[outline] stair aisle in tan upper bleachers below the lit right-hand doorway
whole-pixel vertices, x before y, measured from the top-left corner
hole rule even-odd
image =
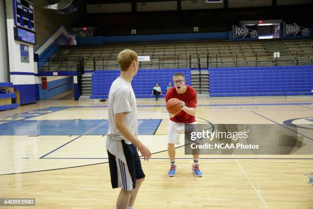
[[[280,40],[264,41],[266,52],[272,55],[272,66],[276,66],[276,58],[274,52],[280,52],[280,57],[277,58],[277,66],[296,65],[295,58],[289,54],[289,51],[283,46]]]

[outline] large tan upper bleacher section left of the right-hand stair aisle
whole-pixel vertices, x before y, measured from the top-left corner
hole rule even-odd
[[[138,55],[150,55],[150,61],[142,63],[141,69],[158,68],[189,68],[189,55],[193,55],[192,68],[197,67],[196,54],[204,55],[201,58],[203,65],[209,61],[211,67],[231,67],[237,60],[239,66],[250,66],[247,62],[255,61],[255,54],[266,53],[262,41],[180,41],[163,43],[123,43],[107,44],[103,46],[63,46],[53,56],[54,58],[77,58],[84,57],[85,70],[94,70],[94,57],[96,60],[95,70],[118,69],[117,56],[123,49],[133,49]],[[266,54],[265,54],[266,55]],[[269,61],[272,54],[257,57],[258,61]],[[60,65],[59,60],[50,62],[50,66]],[[64,61],[63,61],[64,62]],[[224,62],[214,66],[216,62]],[[160,64],[160,65],[159,65]],[[63,68],[65,64],[63,63]],[[255,64],[253,64],[255,65]],[[75,70],[75,65],[73,66]],[[69,69],[69,66],[67,67]],[[41,68],[42,71],[48,68],[48,64]]]

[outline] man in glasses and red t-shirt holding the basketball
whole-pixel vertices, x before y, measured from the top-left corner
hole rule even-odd
[[[180,144],[180,134],[184,133],[185,124],[196,124],[195,113],[197,107],[197,93],[190,87],[185,85],[185,75],[183,73],[176,73],[173,75],[174,87],[167,91],[165,100],[166,102],[171,98],[180,100],[182,106],[181,112],[177,115],[170,115],[168,125],[168,144],[167,152],[171,162],[168,176],[175,176],[175,144]],[[197,177],[202,177],[202,172],[199,170],[199,155],[193,154],[192,173]]]

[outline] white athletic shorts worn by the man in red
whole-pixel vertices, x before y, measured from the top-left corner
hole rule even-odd
[[[169,120],[167,143],[180,144],[180,135],[184,134],[185,124],[197,124],[197,122],[182,123],[182,122],[174,122],[174,121]]]

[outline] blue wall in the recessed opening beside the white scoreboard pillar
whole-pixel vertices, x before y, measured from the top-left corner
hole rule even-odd
[[[50,99],[64,91],[74,88],[73,77],[62,78],[47,82],[47,89],[42,89],[39,84],[39,97],[40,100]]]

